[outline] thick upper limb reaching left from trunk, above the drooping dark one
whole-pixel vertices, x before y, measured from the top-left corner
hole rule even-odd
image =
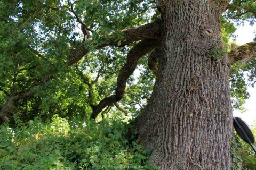
[[[81,43],[76,49],[73,49],[68,56],[67,65],[73,65],[77,63],[81,58],[86,55],[89,50],[89,44],[94,49],[100,49],[107,46],[125,46],[127,44],[133,43],[134,41],[143,40],[146,38],[158,38],[159,37],[159,25],[162,20],[156,20],[153,23],[145,24],[137,28],[132,29],[124,29],[121,31],[123,34],[124,40],[119,38],[111,38],[110,37],[102,37],[102,43],[99,45],[98,42],[93,40],[89,41],[88,43]]]

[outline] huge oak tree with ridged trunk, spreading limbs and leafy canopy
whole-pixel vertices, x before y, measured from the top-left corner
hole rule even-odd
[[[254,85],[256,65],[256,43],[228,43],[230,21],[253,25],[253,0],[0,6],[2,123],[14,114],[81,121],[133,112],[137,141],[159,169],[230,169],[230,98],[241,107],[248,98],[243,71]]]

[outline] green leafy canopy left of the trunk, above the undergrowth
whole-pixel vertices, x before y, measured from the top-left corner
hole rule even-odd
[[[66,67],[70,49],[83,39],[80,23],[69,10],[75,8],[79,18],[93,28],[92,41],[101,41],[100,37],[110,32],[116,31],[113,36],[118,37],[119,30],[150,21],[145,11],[151,12],[153,4],[145,2],[137,7],[137,3],[77,1],[73,6],[69,1],[1,1],[0,106],[10,96],[33,90],[35,94],[20,97],[9,114],[27,121],[54,114],[68,117],[69,121],[89,118],[90,104],[97,104],[115,91],[118,70],[130,47],[94,50],[86,60]],[[142,101],[149,98],[154,83],[147,60],[138,65],[145,72],[135,83],[135,78],[130,78],[125,100],[121,101],[129,113],[137,112]],[[113,110],[112,106],[106,113]]]

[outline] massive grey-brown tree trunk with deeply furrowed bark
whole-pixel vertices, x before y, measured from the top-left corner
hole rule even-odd
[[[138,141],[159,169],[230,169],[232,114],[222,1],[165,1],[162,54]]]

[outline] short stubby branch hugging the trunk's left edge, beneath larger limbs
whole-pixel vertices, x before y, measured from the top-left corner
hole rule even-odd
[[[159,55],[161,55],[161,50],[160,48],[156,48],[148,57],[148,67],[155,74],[155,76],[158,74]]]

